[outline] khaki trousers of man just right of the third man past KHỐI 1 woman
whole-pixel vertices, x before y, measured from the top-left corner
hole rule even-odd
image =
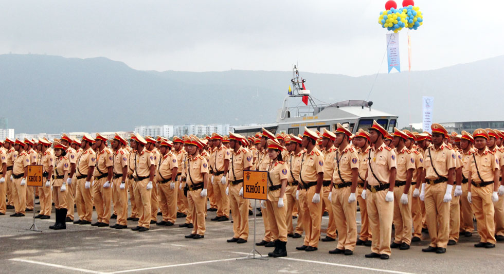
[[[413,225],[411,219],[411,188],[408,191],[408,204],[403,205],[401,204],[401,196],[405,187],[394,187],[394,243],[411,245],[411,226]]]

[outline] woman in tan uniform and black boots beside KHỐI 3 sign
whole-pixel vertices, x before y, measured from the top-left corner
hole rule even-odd
[[[70,161],[66,157],[67,148],[59,143],[54,143],[55,150],[55,172],[52,174],[52,198],[56,208],[56,223],[50,229],[66,229],[65,218],[67,213],[66,204],[66,180],[70,172]],[[74,205],[71,205],[74,206]]]

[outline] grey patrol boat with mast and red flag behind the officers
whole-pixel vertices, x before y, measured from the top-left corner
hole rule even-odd
[[[276,122],[235,126],[235,133],[250,136],[260,132],[264,127],[273,134],[292,133],[298,135],[303,133],[305,126],[310,130],[318,130],[319,132],[322,132],[323,129],[335,131],[336,124],[340,123],[355,134],[359,129],[367,130],[371,127],[373,120],[376,120],[389,132],[397,125],[398,116],[371,108],[373,105],[371,101],[348,100],[334,104],[315,104],[310,90],[303,88],[305,81],[306,79],[299,77],[299,70],[297,66],[294,66],[293,78],[291,79],[294,89],[283,100],[282,108],[278,109]],[[298,98],[296,102],[299,102],[299,97],[305,97],[305,100],[308,99],[307,105],[289,107],[289,99]]]

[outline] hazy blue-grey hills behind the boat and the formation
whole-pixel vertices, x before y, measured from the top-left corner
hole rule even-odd
[[[375,75],[312,74],[302,66],[300,75],[314,98],[373,101],[374,108],[399,115],[402,127],[422,121],[422,96],[435,97],[436,122],[504,120],[503,65],[504,56],[499,56],[436,70],[380,74],[369,98]],[[276,119],[291,78],[292,71],[140,71],[101,57],[3,54],[0,116],[9,119],[16,133],[269,123]]]

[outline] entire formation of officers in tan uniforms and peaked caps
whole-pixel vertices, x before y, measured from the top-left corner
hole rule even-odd
[[[24,216],[33,210],[35,191],[41,207],[35,218],[50,218],[51,203],[55,206],[51,229],[65,229],[66,222],[124,229],[133,220],[138,224],[132,230],[141,232],[185,217],[179,226],[192,228],[185,238],[202,239],[209,200],[208,210],[217,211],[212,221],[228,221],[232,214],[227,242],[241,244],[248,240],[251,210],[243,198],[243,171],[259,170],[268,172],[268,195],[261,202],[265,234],[256,245],[275,247],[271,257],[286,256],[287,238],[303,232],[303,245],[296,249],[317,250],[325,211],[329,224],[322,241],[337,241],[332,254],[352,255],[356,245],[366,245],[371,247],[366,258],[385,260],[392,248],[409,249],[426,230],[430,245],[422,251],[444,253],[459,236],[472,236],[474,216],[480,236],[475,247],[495,247],[504,240],[504,134],[492,129],[449,134],[437,123],[431,132],[388,133],[373,122],[369,131],[355,135],[338,124],[335,132],[305,128],[298,136],[263,129],[248,138],[235,133],[173,140],[132,134],[129,141],[117,134],[111,140],[99,133],[81,140],[63,134],[53,143],[7,138],[0,148],[0,214],[14,208],[11,216]],[[44,186],[33,191],[26,186],[30,165],[43,166]],[[117,218],[115,225],[109,225],[111,218]]]

